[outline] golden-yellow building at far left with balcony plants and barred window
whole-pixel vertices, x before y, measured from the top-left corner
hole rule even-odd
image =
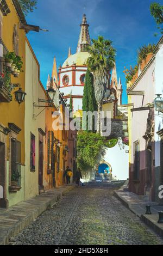
[[[2,4],[3,2],[3,4]],[[0,5],[1,20],[1,86],[0,86],[0,207],[17,203],[24,198],[24,102],[15,100],[18,85],[25,90],[25,72],[19,77],[11,74],[5,55],[15,52],[26,69],[26,32],[19,28],[26,22],[17,1],[3,0]],[[12,89],[12,86],[17,86]]]

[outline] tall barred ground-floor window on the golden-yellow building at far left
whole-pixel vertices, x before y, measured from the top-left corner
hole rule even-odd
[[[21,142],[11,139],[11,185],[21,186]]]

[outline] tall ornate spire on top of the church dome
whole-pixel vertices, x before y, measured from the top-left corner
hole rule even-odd
[[[87,24],[85,14],[83,14],[83,20],[82,20],[82,24],[80,24],[80,27],[81,29],[80,29],[77,53],[84,52],[85,46],[91,44],[91,39],[89,34],[89,24]]]

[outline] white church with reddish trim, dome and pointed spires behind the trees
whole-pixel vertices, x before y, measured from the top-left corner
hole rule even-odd
[[[57,64],[54,58],[52,78],[54,88],[58,85],[60,92],[64,93],[64,98],[67,99],[67,104],[70,103],[70,95],[72,96],[73,112],[82,110],[83,90],[85,83],[85,74],[87,71],[86,61],[90,57],[89,52],[86,52],[86,46],[91,45],[89,34],[89,24],[87,24],[86,15],[83,15],[82,24],[80,24],[80,35],[78,40],[77,51],[71,54],[71,48],[68,51],[68,58],[59,67],[57,75]],[[51,83],[51,77],[48,75],[47,89]],[[122,84],[121,79],[117,80],[116,65],[112,70],[111,82],[109,81],[109,89],[115,94],[115,108],[122,104]]]

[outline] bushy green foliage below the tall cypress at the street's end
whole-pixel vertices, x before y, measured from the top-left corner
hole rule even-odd
[[[104,138],[92,132],[79,132],[77,137],[77,164],[86,172],[95,168],[98,163],[101,150],[104,148]]]

